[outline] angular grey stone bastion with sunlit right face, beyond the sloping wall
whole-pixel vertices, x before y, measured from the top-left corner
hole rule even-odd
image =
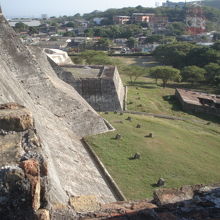
[[[45,52],[59,78],[73,86],[96,111],[123,111],[125,88],[117,67],[62,64],[52,59],[48,50]]]

